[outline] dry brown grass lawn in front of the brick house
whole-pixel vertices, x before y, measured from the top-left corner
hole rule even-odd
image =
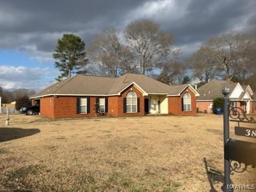
[[[0,127],[0,191],[221,191],[222,116],[10,118]],[[231,180],[256,184],[255,175],[249,166]]]

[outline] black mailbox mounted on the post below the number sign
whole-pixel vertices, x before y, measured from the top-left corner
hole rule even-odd
[[[256,143],[229,139],[225,145],[225,159],[256,166]]]

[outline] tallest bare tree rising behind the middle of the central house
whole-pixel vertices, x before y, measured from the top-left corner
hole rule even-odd
[[[178,54],[172,47],[173,35],[161,30],[157,23],[150,20],[131,22],[124,29],[124,37],[141,74],[166,62],[174,53]]]

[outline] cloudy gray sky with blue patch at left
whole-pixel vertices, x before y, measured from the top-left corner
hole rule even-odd
[[[53,83],[58,70],[51,55],[64,33],[88,46],[103,28],[152,19],[174,34],[182,60],[231,29],[256,36],[255,10],[255,0],[1,0],[0,86],[38,91]]]

